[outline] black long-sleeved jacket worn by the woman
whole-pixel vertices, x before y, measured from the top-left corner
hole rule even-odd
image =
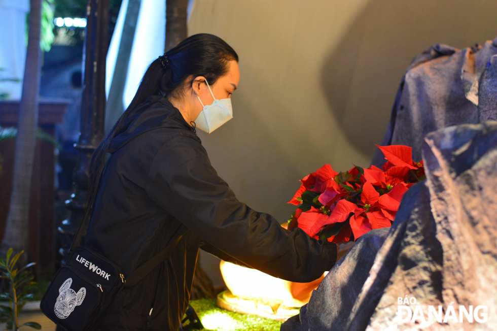
[[[110,152],[86,245],[129,275],[188,230],[160,266],[113,300],[101,330],[177,330],[199,247],[297,282],[314,280],[335,263],[335,244],[283,229],[239,202],[192,127],[162,96],[132,111]]]

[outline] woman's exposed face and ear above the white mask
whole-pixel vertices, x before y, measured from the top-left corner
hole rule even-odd
[[[219,100],[231,97],[233,92],[236,90],[238,83],[240,82],[240,70],[238,69],[238,62],[236,62],[235,60],[231,60],[228,65],[228,73],[224,76],[221,76],[214,85],[210,84],[210,82],[207,81],[212,90],[212,93],[214,94],[216,99]],[[196,77],[192,87],[194,93],[198,95],[204,106],[210,105],[212,104],[212,102],[214,102],[214,98],[212,98],[207,84],[205,84],[205,77]],[[194,101],[195,100],[198,105],[198,113],[196,114],[198,116],[198,114],[202,111],[202,105],[198,101],[197,97],[194,95]]]

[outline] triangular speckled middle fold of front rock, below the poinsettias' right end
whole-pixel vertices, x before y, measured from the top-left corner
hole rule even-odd
[[[440,303],[442,247],[435,237],[430,193],[425,182],[408,193],[396,217],[398,226],[378,253],[349,316],[350,330],[364,330],[370,322],[368,329],[396,325],[398,297],[409,295],[418,303]]]

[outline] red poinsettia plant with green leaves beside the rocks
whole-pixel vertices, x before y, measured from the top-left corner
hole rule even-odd
[[[376,145],[378,146],[378,145]],[[404,193],[425,178],[422,160],[408,146],[378,146],[387,161],[380,168],[353,167],[337,173],[325,164],[305,176],[289,204],[297,210],[288,229],[333,243],[357,240],[372,229],[392,225]]]

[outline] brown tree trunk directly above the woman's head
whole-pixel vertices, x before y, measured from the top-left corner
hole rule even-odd
[[[164,53],[187,37],[188,0],[166,0],[166,43]]]

